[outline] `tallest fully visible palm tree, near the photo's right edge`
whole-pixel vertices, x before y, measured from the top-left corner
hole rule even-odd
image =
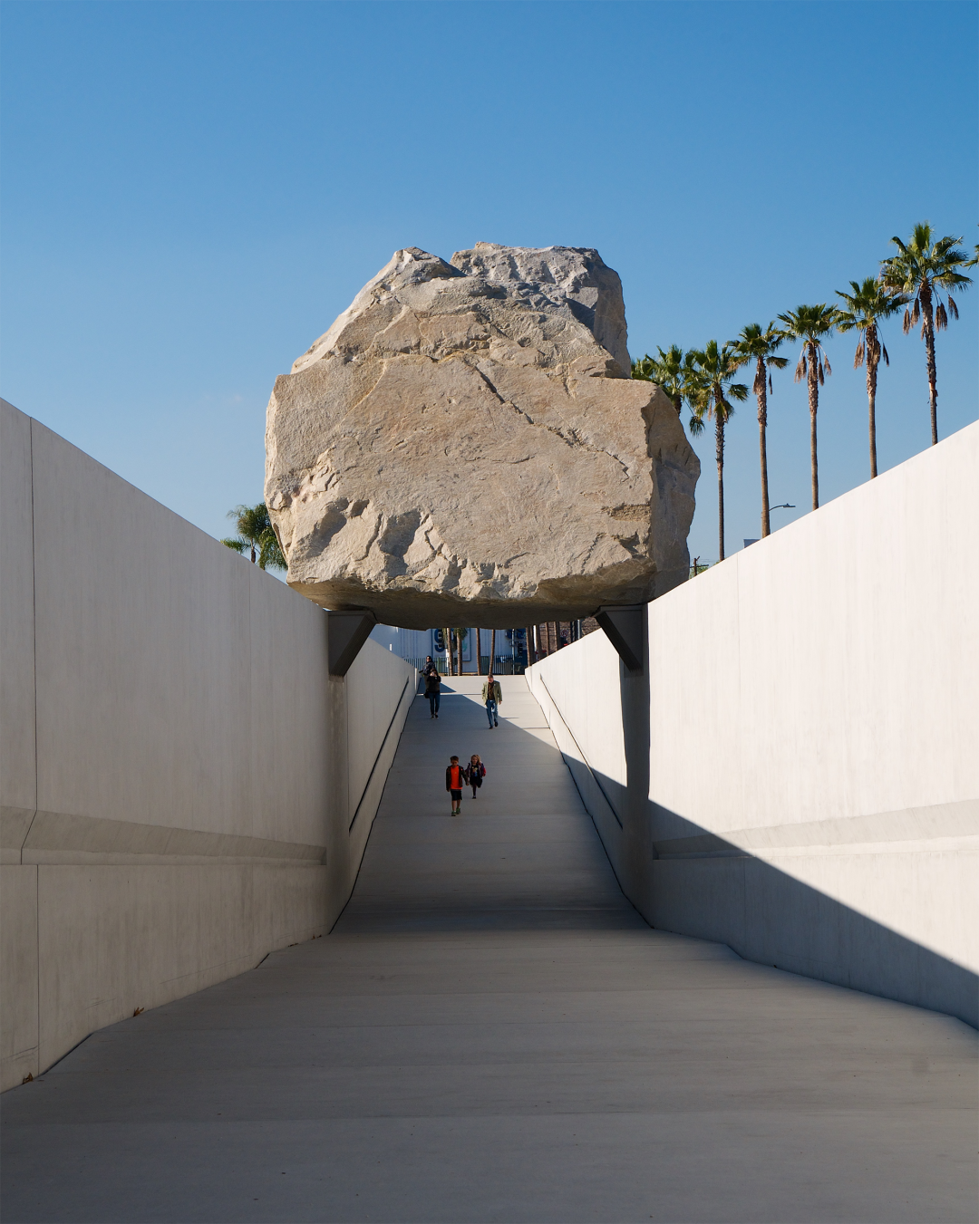
[[[972,278],[959,272],[969,264],[969,257],[958,244],[961,237],[940,237],[932,241],[931,226],[920,222],[907,242],[899,237],[891,241],[897,255],[881,262],[880,280],[892,294],[907,294],[910,306],[904,310],[904,334],[921,319],[921,339],[928,359],[928,399],[931,409],[931,446],[939,441],[939,378],[935,368],[935,332],[948,326],[948,313],[958,318],[952,294],[962,293],[972,284]],[[948,310],[941,300],[945,290]],[[937,305],[936,305],[937,302]]]

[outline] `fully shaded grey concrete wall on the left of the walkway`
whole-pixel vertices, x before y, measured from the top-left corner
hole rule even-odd
[[[330,929],[415,673],[4,401],[0,523],[5,1088]]]

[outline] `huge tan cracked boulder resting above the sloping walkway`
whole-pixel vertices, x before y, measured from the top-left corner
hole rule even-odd
[[[489,629],[684,581],[700,464],[629,368],[598,252],[397,251],[276,379],[266,503],[289,585],[387,624]]]

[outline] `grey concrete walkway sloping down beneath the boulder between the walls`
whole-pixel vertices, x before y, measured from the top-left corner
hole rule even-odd
[[[0,1097],[5,1224],[973,1224],[979,1034],[649,930],[523,681],[450,683],[330,936]]]

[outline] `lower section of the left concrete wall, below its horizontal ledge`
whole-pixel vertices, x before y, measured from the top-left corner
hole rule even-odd
[[[2,867],[0,1084],[328,929],[326,868]]]

